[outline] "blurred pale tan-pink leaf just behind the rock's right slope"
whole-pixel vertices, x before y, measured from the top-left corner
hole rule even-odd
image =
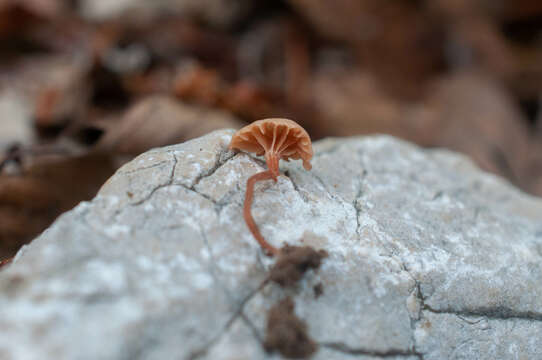
[[[439,80],[425,105],[435,146],[471,156],[482,168],[521,186],[529,136],[526,121],[497,82],[475,73]]]

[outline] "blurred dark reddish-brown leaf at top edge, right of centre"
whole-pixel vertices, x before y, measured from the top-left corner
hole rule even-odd
[[[413,1],[290,0],[323,35],[349,44],[382,86],[401,96],[423,90],[442,68],[442,25]]]

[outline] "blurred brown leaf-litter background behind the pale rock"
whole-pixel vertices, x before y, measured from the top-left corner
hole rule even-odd
[[[0,0],[0,259],[152,147],[272,116],[542,196],[540,0]]]

